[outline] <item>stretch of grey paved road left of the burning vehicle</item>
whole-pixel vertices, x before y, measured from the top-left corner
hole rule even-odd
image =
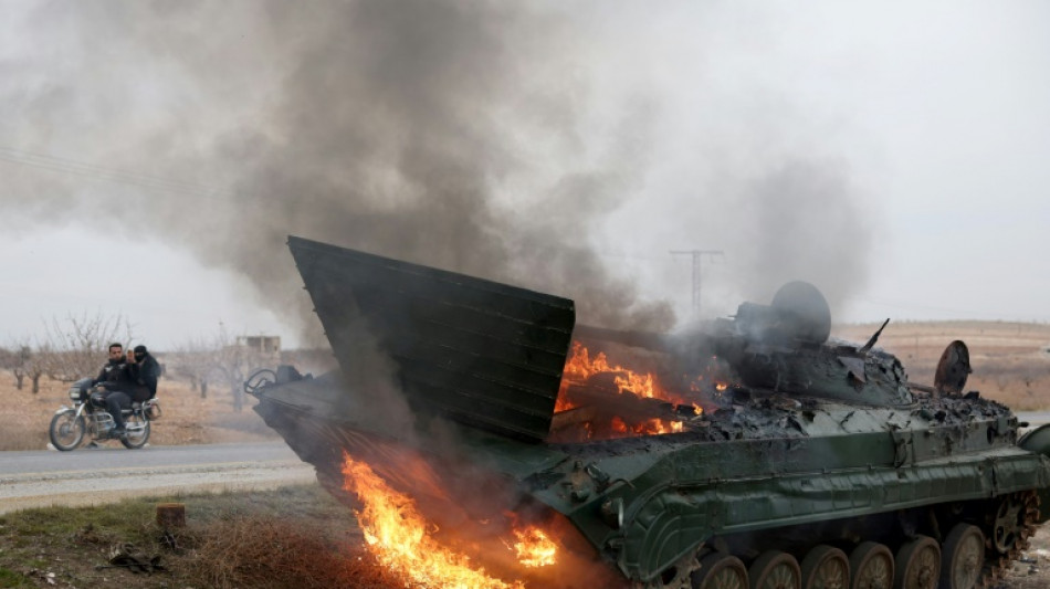
[[[128,496],[246,491],[315,481],[284,442],[0,452],[0,513]]]

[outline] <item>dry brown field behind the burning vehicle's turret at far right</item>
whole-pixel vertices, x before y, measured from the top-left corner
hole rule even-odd
[[[839,325],[831,335],[865,341],[878,324]],[[913,382],[933,385],[941,354],[949,343],[969,348],[974,374],[966,390],[1030,411],[1050,408],[1050,325],[1007,322],[890,322],[878,347],[895,355]]]

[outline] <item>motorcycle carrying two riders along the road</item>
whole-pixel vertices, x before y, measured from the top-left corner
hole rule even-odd
[[[122,414],[126,433],[116,435],[113,433],[116,422],[98,392],[97,387],[91,387],[90,378],[77,380],[70,387],[73,407],[62,406],[51,418],[51,428],[48,431],[51,443],[63,452],[75,450],[86,437],[94,441],[120,440],[129,450],[146,445],[149,440],[149,422],[160,418],[160,403],[157,399],[133,402],[130,409],[125,409]]]

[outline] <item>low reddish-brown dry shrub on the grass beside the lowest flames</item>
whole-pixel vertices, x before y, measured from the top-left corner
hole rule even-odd
[[[188,577],[204,587],[397,587],[359,546],[318,526],[235,516],[187,534]]]

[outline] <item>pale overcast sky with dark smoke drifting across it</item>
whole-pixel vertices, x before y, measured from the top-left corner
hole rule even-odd
[[[622,327],[1050,320],[1050,4],[0,3],[0,345],[316,330],[284,236]],[[304,309],[306,309],[304,312]]]

